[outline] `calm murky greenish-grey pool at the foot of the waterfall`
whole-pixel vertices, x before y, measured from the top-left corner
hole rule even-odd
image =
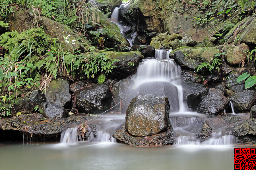
[[[1,170],[65,169],[234,169],[234,148],[248,145],[166,145],[135,147],[123,143],[0,144]],[[255,146],[252,146],[255,148]]]

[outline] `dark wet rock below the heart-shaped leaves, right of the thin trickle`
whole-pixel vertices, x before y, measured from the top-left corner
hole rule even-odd
[[[256,92],[254,90],[244,90],[230,96],[236,110],[249,111],[256,102]]]

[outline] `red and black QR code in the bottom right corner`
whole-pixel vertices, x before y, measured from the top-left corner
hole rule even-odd
[[[234,170],[256,170],[256,148],[234,148]]]

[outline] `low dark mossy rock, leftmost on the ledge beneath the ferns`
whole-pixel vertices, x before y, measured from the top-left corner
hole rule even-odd
[[[34,106],[32,104],[32,102],[30,101],[30,99],[26,98],[26,97],[19,97],[19,98],[15,98],[15,100],[10,101],[12,103],[10,109],[10,116],[15,116],[16,113],[20,112],[21,114],[30,114],[33,113],[34,111]],[[10,103],[7,103],[7,107],[9,107]]]

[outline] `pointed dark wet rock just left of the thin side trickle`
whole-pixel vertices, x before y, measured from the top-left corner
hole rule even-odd
[[[228,98],[219,90],[210,88],[208,94],[199,104],[197,112],[219,115],[228,105]]]

